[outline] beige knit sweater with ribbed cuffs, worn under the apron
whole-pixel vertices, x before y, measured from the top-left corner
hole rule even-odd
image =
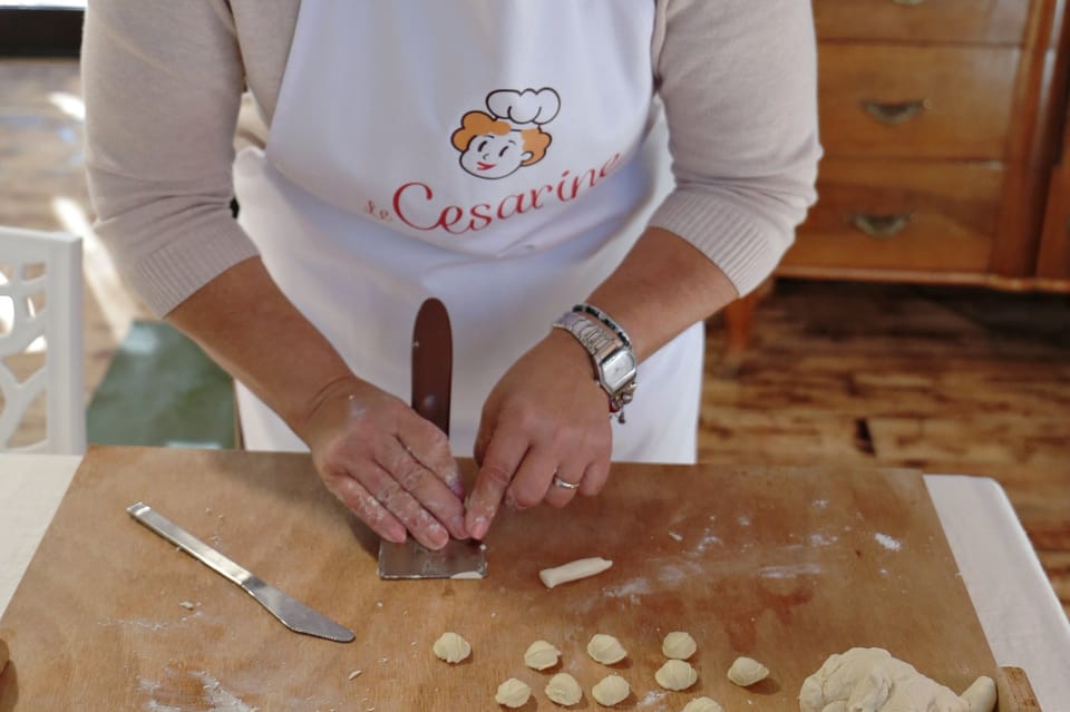
[[[360,0],[362,1],[362,0]],[[653,1],[653,0],[652,0]],[[232,220],[239,129],[263,142],[300,0],[93,0],[82,80],[97,232],[166,314],[256,250]],[[651,72],[677,188],[651,224],[742,294],[816,198],[816,51],[807,0],[656,0]],[[582,209],[582,205],[578,209]]]

